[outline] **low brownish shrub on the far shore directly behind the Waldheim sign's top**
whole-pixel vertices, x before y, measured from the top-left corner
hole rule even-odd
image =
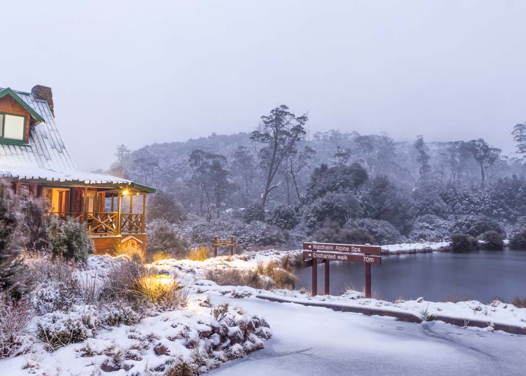
[[[311,236],[311,240],[327,243],[376,244],[375,238],[360,227],[342,227],[338,222],[323,223]]]

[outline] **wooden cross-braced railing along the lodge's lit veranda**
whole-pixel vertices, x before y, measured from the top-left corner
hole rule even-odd
[[[120,234],[142,234],[144,233],[144,215],[128,214],[118,212],[99,213],[49,213],[61,219],[72,219],[74,222],[86,225],[88,234],[94,236],[116,236]]]

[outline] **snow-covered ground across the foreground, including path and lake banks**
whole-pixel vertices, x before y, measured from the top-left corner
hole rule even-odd
[[[427,243],[440,249],[443,243]],[[390,252],[422,249],[422,245],[386,246]],[[223,364],[217,374],[524,374],[526,337],[504,333],[495,324],[526,328],[526,309],[494,301],[429,302],[366,299],[360,292],[309,296],[307,291],[259,290],[220,286],[206,280],[210,271],[237,269],[254,272],[258,265],[276,262],[300,250],[247,252],[206,261],[162,260],[151,266],[166,278],[186,285],[184,309],[158,312],[135,325],[101,328],[93,338],[48,352],[42,342],[15,358],[0,360],[0,375],[163,375],[173,362],[195,358],[217,341],[229,349],[204,357],[201,371]],[[104,272],[112,258],[92,256],[84,276]],[[268,278],[262,276],[261,278]],[[278,303],[262,298],[287,300]],[[214,318],[211,307],[229,303],[229,316]],[[392,316],[336,312],[320,306],[381,310]],[[400,313],[421,323],[397,321]],[[436,316],[464,323],[484,321],[485,328],[432,321]],[[272,332],[266,327],[268,324]],[[248,333],[254,326],[258,335]],[[237,338],[236,337],[239,337]],[[268,338],[272,338],[265,342]],[[247,341],[248,338],[248,341]],[[236,340],[237,339],[237,340]],[[193,343],[191,343],[194,341]],[[196,343],[198,345],[196,346]]]

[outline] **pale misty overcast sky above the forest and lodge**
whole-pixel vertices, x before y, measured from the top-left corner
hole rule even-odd
[[[526,1],[9,1],[0,87],[51,86],[83,170],[106,169],[121,143],[251,131],[282,103],[309,113],[311,133],[512,152],[525,19]]]

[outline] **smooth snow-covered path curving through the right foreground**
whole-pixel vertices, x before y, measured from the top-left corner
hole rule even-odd
[[[526,374],[526,337],[522,336],[255,298],[211,299],[263,316],[273,337],[265,349],[210,374]]]

